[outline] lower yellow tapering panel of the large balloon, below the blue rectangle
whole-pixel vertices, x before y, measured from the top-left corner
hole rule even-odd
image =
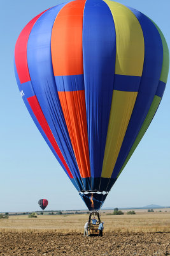
[[[138,92],[113,90],[102,177],[110,178],[124,140]]]

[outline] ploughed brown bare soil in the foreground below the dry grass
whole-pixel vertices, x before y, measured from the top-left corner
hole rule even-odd
[[[80,232],[0,232],[1,256],[156,256],[170,255],[168,232],[105,232],[83,237]]]

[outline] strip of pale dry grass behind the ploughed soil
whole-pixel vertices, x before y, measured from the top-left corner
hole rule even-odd
[[[0,232],[82,232],[88,214],[38,216],[30,219],[27,216],[10,216],[0,220]],[[104,230],[108,232],[170,232],[170,212],[136,215],[102,215]]]

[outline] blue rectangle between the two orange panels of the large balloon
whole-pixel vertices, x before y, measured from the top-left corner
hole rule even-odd
[[[58,92],[85,90],[83,75],[55,76],[55,82]]]

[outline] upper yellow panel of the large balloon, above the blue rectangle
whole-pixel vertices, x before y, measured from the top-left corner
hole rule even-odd
[[[108,0],[105,2],[113,15],[117,35],[115,74],[141,76],[145,53],[141,25],[124,5]]]

